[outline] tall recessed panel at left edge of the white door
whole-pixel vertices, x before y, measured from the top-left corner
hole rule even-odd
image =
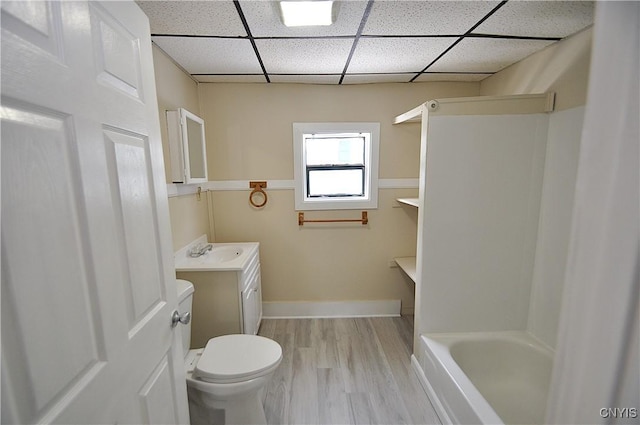
[[[3,324],[14,327],[3,327],[2,333],[4,339],[6,330],[16,344],[16,362],[23,372],[14,379],[31,384],[25,400],[30,409],[41,410],[81,381],[103,350],[97,339],[96,305],[87,302],[88,293],[95,291],[95,279],[86,261],[78,261],[87,244],[81,229],[82,202],[73,181],[77,160],[70,149],[74,140],[69,118],[13,103],[3,102],[1,116],[2,205],[11,206],[3,208],[2,238],[14,241],[3,246],[2,313]],[[65,249],[35,258],[28,255],[43,239],[59,241]],[[36,263],[39,267],[34,267]],[[65,284],[47,284],[55,275]],[[41,282],[38,296],[24,282]],[[68,344],[57,344],[51,335]],[[52,359],[57,360],[53,368]],[[16,370],[8,373],[14,375]],[[42,376],[47,376],[42,385],[34,385]]]

